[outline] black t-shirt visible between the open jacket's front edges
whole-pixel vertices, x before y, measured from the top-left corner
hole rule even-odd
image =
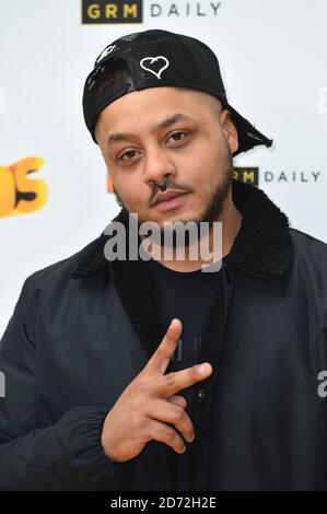
[[[197,353],[209,320],[211,304],[220,287],[221,271],[180,272],[171,270],[153,259],[148,264],[154,283],[155,307],[162,336],[165,335],[173,318],[179,318],[183,324],[183,332],[166,373],[200,364]],[[192,387],[176,394],[187,399],[186,412],[191,417]],[[191,466],[189,448],[187,447],[183,455],[170,448],[168,451],[173,454],[171,457],[174,468],[174,488],[175,490],[187,489]]]

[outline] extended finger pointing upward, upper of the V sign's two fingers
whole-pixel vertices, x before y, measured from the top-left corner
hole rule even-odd
[[[144,371],[155,371],[164,373],[174,355],[177,342],[183,330],[182,322],[174,318],[157,349],[148,362]]]

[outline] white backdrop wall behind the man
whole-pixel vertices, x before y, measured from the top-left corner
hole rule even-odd
[[[168,15],[173,3],[179,15]],[[212,47],[230,103],[275,140],[235,165],[258,167],[292,225],[327,242],[327,1],[222,0],[217,15],[212,3],[143,0],[143,23],[83,25],[80,0],[0,0],[0,335],[25,278],[78,252],[119,210],[81,97],[96,56],[124,34],[164,28]],[[47,200],[3,211],[8,167],[31,156],[45,161],[28,180],[46,183]]]

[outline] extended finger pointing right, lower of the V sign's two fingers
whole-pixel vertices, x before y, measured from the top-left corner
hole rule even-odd
[[[186,389],[197,382],[205,381],[212,373],[212,366],[209,362],[200,365],[187,367],[186,370],[168,373],[156,381],[152,393],[163,398],[172,396],[178,390]]]

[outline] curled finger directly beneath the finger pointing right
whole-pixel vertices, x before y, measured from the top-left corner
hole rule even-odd
[[[174,425],[188,443],[191,443],[195,439],[192,422],[185,410],[177,405],[172,405],[165,399],[155,400],[150,405],[148,416],[157,421]]]

